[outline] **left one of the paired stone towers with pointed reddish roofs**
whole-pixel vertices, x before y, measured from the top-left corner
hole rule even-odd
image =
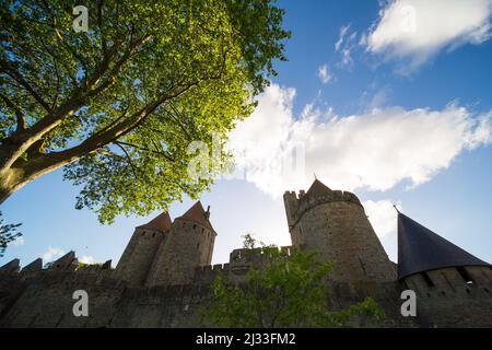
[[[172,228],[171,218],[163,212],[149,223],[134,229],[118,266],[115,276],[133,285],[142,285],[149,275],[155,254],[166,241]]]

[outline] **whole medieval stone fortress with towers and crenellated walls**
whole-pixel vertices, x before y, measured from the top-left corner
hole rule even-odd
[[[492,327],[491,266],[399,213],[398,261],[388,259],[364,208],[351,192],[315,180],[288,191],[284,205],[292,246],[335,262],[331,307],[372,296],[386,327]],[[469,233],[472,234],[472,233]],[[197,327],[218,273],[234,283],[255,255],[231,253],[213,265],[218,233],[210,210],[195,203],[174,221],[162,213],[138,226],[117,267],[78,264],[73,252],[43,268],[19,259],[0,268],[0,327]],[[75,290],[89,295],[89,316],[72,313]],[[417,316],[403,317],[401,292],[417,295]]]

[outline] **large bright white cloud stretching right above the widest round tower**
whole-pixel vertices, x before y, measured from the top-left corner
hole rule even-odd
[[[405,180],[418,186],[462,151],[492,142],[492,110],[477,116],[449,104],[343,117],[306,105],[296,118],[294,96],[294,89],[271,84],[253,116],[231,133],[236,170],[273,197],[306,188],[313,173],[345,190],[387,190]]]

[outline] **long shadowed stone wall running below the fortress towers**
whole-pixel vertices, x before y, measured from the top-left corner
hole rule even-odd
[[[73,270],[0,272],[0,327],[200,327],[209,285],[222,273],[231,281],[244,276],[257,255],[231,256],[229,264],[198,267],[192,283],[136,287],[115,278],[103,267]],[[256,264],[256,262],[255,262]],[[434,285],[421,275],[405,282],[331,281],[330,307],[343,310],[373,298],[386,314],[385,327],[491,327],[491,270],[467,268],[473,283],[456,269],[427,271]],[[417,317],[402,317],[402,290],[417,292]],[[75,290],[89,293],[89,317],[74,317]]]

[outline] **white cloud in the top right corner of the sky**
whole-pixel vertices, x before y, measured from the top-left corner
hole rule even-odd
[[[492,0],[394,0],[364,37],[367,49],[417,68],[443,48],[490,38]]]

